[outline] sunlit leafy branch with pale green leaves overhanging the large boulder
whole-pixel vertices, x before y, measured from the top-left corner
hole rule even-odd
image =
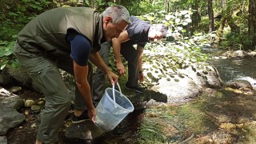
[[[164,23],[168,26],[167,38],[162,42],[150,42],[145,49],[153,50],[155,54],[164,54],[171,58],[172,70],[193,66],[194,63],[206,62],[208,54],[202,54],[202,46],[210,46],[210,39],[215,34],[195,33],[192,37],[188,34],[190,26],[190,10],[175,13],[159,12],[146,14],[141,18],[150,23]],[[165,57],[166,57],[165,56]]]

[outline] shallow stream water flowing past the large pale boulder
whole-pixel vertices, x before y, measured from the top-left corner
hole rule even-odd
[[[223,82],[255,85],[256,58],[222,59],[225,51],[202,49],[215,59]],[[134,110],[98,143],[256,143],[256,97],[209,90],[182,105]]]

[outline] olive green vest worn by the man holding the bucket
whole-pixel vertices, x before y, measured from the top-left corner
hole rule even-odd
[[[90,41],[92,52],[100,50],[102,14],[86,7],[62,7],[39,14],[18,33],[18,43],[34,54],[66,58],[70,56],[66,34],[71,29]]]

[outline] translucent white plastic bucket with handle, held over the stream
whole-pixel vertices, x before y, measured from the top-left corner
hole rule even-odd
[[[118,90],[106,88],[98,106],[96,107],[96,126],[102,130],[113,130],[127,114],[134,111],[134,106],[125,95],[122,94],[118,84]]]

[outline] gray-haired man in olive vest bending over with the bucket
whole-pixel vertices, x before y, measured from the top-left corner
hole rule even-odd
[[[36,144],[58,141],[58,129],[70,108],[70,95],[58,68],[74,75],[74,115],[87,110],[95,122],[90,62],[113,85],[118,82],[118,75],[106,66],[98,50],[102,42],[118,38],[128,24],[130,15],[124,6],[110,6],[102,14],[86,7],[63,7],[39,14],[18,33],[14,54],[46,97]]]

